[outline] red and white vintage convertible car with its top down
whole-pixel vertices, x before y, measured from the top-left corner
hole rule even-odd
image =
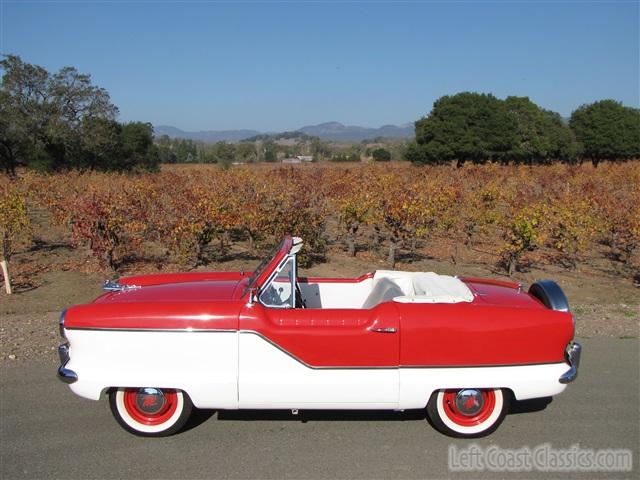
[[[425,409],[442,433],[495,430],[512,400],[562,392],[581,347],[564,293],[435,273],[301,278],[297,237],[253,273],[106,282],[60,317],[58,377],[109,397],[126,430],[179,431],[191,410]]]

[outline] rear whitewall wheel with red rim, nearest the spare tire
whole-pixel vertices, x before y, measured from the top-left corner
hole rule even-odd
[[[483,437],[493,432],[509,408],[500,388],[438,390],[427,404],[427,415],[440,432],[451,437]]]

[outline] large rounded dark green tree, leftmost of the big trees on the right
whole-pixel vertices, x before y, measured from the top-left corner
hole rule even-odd
[[[416,146],[409,147],[407,158],[419,163],[456,160],[461,166],[466,161],[503,160],[517,136],[504,102],[484,93],[441,97],[415,126]]]

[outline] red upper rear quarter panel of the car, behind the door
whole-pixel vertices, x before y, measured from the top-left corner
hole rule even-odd
[[[400,315],[403,366],[562,362],[573,338],[571,314],[537,307],[403,304]]]

